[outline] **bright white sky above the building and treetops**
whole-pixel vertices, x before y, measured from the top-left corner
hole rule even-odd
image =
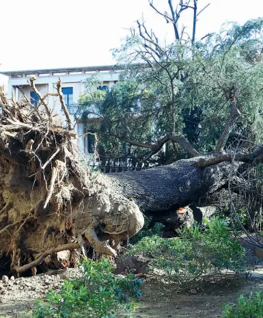
[[[174,0],[178,3],[179,0]],[[199,0],[199,8],[208,3]],[[225,21],[244,23],[263,15],[262,0],[210,0],[199,16],[197,35],[218,31]],[[167,41],[167,25],[148,0],[1,0],[0,72],[114,64],[128,28],[143,14],[147,25]],[[168,10],[167,0],[154,0]],[[189,16],[182,16],[187,24]],[[198,38],[197,36],[197,38]]]

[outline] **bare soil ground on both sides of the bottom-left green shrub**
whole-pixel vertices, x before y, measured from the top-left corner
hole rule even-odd
[[[78,276],[79,271],[54,271],[14,282],[0,284],[0,318],[29,318],[34,300],[50,289],[59,289],[63,279]],[[195,289],[197,294],[190,292]],[[144,278],[143,295],[139,299],[135,318],[214,318],[221,317],[223,303],[236,303],[238,296],[251,291],[263,291],[263,266],[258,266],[247,278],[226,274],[223,279],[208,278],[205,283],[189,286],[189,291],[176,293],[154,275]],[[193,292],[193,290],[192,290]],[[124,316],[125,317],[125,316]]]

